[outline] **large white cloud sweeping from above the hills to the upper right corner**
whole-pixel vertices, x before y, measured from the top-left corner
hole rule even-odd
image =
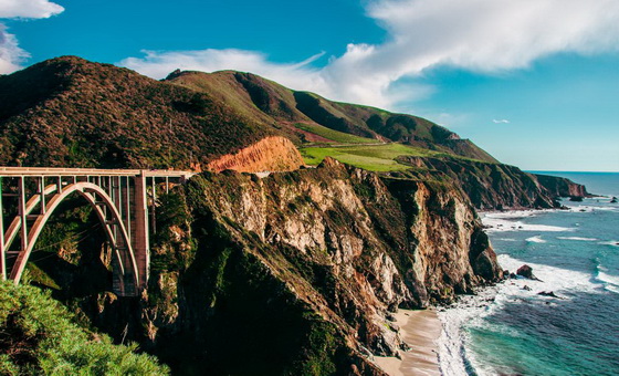
[[[375,0],[367,10],[389,40],[348,44],[322,69],[240,50],[147,52],[119,64],[158,79],[177,67],[250,71],[333,100],[392,108],[411,94],[394,83],[434,66],[496,73],[558,52],[619,50],[617,0]]]

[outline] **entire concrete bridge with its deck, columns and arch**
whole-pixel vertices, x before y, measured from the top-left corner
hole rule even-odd
[[[19,283],[44,224],[70,196],[88,202],[113,252],[113,289],[136,296],[146,288],[149,233],[157,189],[167,192],[196,173],[186,170],[0,167],[0,273]],[[8,198],[3,205],[3,199]],[[12,215],[9,215],[12,213]],[[4,227],[4,219],[10,223]],[[150,221],[149,221],[150,219]],[[150,229],[149,229],[150,228]],[[14,240],[20,238],[20,242]]]

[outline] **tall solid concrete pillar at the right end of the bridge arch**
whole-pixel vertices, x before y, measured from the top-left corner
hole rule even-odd
[[[135,215],[135,232],[132,239],[134,252],[139,275],[139,289],[147,285],[149,264],[150,264],[150,240],[148,237],[148,202],[146,195],[146,175],[141,170],[135,178],[135,197],[134,197],[134,215]]]

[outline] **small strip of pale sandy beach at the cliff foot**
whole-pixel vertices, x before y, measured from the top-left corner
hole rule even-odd
[[[436,341],[441,335],[441,322],[434,310],[398,310],[395,314],[400,335],[410,351],[395,356],[376,356],[375,363],[390,376],[440,375]]]

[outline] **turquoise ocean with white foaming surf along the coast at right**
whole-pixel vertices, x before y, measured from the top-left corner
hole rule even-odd
[[[482,213],[502,268],[528,264],[539,281],[510,279],[439,312],[443,375],[619,375],[619,174],[545,174],[605,196]]]

